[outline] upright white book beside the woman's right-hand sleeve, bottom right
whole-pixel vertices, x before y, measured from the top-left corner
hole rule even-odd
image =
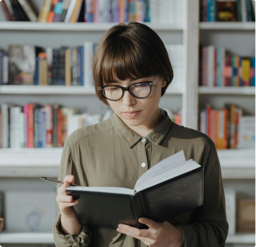
[[[235,235],[236,226],[236,191],[233,188],[224,188],[226,216],[228,221],[228,235]]]

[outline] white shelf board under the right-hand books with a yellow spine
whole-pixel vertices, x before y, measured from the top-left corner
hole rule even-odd
[[[200,86],[199,94],[239,94],[255,95],[256,87],[207,87]]]

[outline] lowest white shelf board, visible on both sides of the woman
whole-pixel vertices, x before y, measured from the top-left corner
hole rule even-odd
[[[226,244],[255,244],[255,234],[228,236]],[[0,243],[4,244],[54,244],[52,233],[0,233]]]

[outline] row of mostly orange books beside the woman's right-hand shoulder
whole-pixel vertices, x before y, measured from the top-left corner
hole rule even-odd
[[[207,105],[199,112],[199,130],[214,141],[217,149],[255,148],[255,116],[242,114],[242,108],[233,104],[225,104],[222,110]]]

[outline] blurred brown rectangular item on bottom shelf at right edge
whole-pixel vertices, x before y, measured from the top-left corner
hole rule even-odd
[[[240,199],[238,202],[238,231],[255,233],[255,199]]]

